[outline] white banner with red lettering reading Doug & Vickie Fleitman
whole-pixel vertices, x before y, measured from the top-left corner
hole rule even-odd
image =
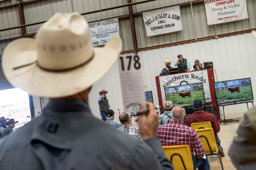
[[[207,24],[248,18],[246,0],[205,0]]]

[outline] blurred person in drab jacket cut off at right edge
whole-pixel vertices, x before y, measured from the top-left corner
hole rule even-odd
[[[256,33],[256,32],[255,32]],[[244,114],[228,152],[238,170],[256,167],[256,107]]]

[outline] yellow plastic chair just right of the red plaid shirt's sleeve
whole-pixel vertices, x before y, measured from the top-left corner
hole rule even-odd
[[[221,168],[222,168],[222,170],[224,170],[223,164],[222,164],[222,159],[221,159],[221,156],[220,156],[220,153],[218,151],[218,147],[217,147],[217,144],[215,141],[213,128],[196,129],[196,131],[197,131],[197,134],[204,146],[205,154],[206,155],[218,155],[218,157],[220,159]]]

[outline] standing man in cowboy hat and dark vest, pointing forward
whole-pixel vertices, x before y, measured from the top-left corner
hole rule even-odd
[[[99,92],[99,98],[98,98],[98,104],[99,104],[99,112],[102,117],[103,122],[107,120],[106,118],[106,111],[110,109],[110,104],[108,102],[108,99],[106,97],[106,91],[105,89],[101,90]]]

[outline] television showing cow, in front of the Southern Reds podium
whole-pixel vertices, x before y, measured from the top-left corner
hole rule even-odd
[[[174,106],[193,106],[195,99],[200,99],[205,104],[203,83],[166,87],[165,97],[166,100],[171,100]]]

